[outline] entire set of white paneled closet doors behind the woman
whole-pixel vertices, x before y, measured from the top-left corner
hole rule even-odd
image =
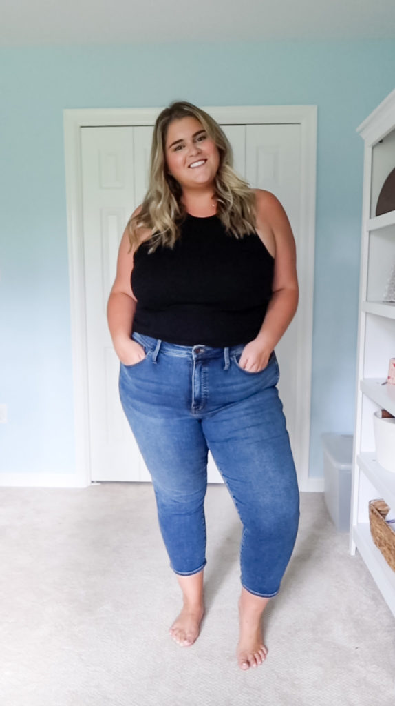
[[[120,237],[147,187],[151,126],[82,128],[84,267],[87,294],[89,428],[92,480],[149,481],[149,473],[120,406],[118,359],[106,322]],[[299,220],[299,126],[223,126],[234,167],[251,186],[280,198],[296,231]],[[278,347],[281,392],[289,431],[294,428],[293,360],[296,342]],[[282,351],[283,349],[283,351]],[[208,480],[220,482],[211,457]]]

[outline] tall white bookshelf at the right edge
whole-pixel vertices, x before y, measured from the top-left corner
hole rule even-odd
[[[395,303],[382,301],[395,265],[395,210],[375,215],[384,181],[395,168],[395,90],[358,133],[365,141],[365,160],[350,549],[360,553],[395,616],[395,572],[372,541],[368,510],[375,498],[395,510],[395,473],[378,464],[373,433],[377,409],[395,416],[395,386],[383,384],[389,359],[395,357]]]

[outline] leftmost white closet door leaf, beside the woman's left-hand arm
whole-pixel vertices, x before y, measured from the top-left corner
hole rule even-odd
[[[106,303],[134,203],[133,129],[82,128],[82,198],[92,480],[140,479],[141,458],[118,396]]]

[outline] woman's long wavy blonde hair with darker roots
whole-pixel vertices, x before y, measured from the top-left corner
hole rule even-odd
[[[213,196],[217,199],[217,215],[227,233],[242,238],[255,231],[255,195],[246,181],[234,172],[232,147],[225,133],[201,108],[185,101],[175,101],[158,115],[153,128],[148,191],[139,213],[133,215],[127,224],[132,247],[139,246],[142,229],[152,232],[150,252],[159,245],[173,248],[180,237],[180,225],[186,211],[181,202],[181,186],[168,174],[165,142],[170,123],[189,116],[199,120],[218,148],[220,162]]]

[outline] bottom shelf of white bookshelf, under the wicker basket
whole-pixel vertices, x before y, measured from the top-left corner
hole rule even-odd
[[[395,571],[389,568],[381,551],[373,543],[368,524],[353,527],[353,541],[395,616]]]

